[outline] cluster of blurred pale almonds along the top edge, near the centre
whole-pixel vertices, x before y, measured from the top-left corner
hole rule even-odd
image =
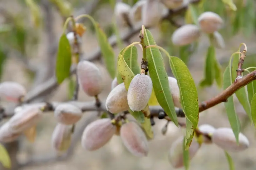
[[[188,5],[190,0],[140,0],[132,7],[124,2],[117,2],[115,7],[116,21],[119,27],[157,25],[169,9],[178,9]]]

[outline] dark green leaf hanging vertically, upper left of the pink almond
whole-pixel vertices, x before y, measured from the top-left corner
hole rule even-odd
[[[62,83],[70,75],[71,67],[71,47],[66,37],[62,34],[59,41],[59,48],[56,62],[56,78],[59,84]]]

